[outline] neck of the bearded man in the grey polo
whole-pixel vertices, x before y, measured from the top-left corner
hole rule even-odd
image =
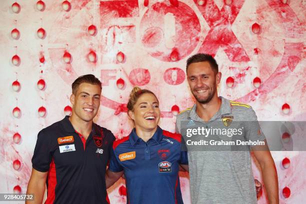
[[[220,109],[222,100],[217,95],[207,103],[196,101],[196,113],[204,121],[209,121],[210,118]]]

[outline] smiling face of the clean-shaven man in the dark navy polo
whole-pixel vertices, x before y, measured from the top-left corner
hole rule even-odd
[[[101,88],[99,85],[81,83],[75,95],[70,96],[72,114],[83,121],[92,121],[100,106]]]

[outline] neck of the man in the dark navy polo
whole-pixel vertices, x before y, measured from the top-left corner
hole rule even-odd
[[[69,120],[74,130],[80,133],[85,139],[87,139],[92,130],[92,120],[84,121],[73,114],[71,114]]]

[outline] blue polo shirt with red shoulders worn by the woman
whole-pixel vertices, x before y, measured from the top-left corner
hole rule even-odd
[[[188,164],[187,151],[181,150],[180,134],[159,126],[147,141],[133,129],[114,141],[109,170],[124,170],[127,203],[183,203],[178,170]]]

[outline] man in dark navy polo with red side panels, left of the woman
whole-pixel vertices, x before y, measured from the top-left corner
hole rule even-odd
[[[26,192],[34,194],[34,203],[42,202],[45,184],[45,203],[109,203],[105,171],[115,137],[92,121],[100,95],[94,75],[78,77],[72,83],[71,116],[38,133]]]

